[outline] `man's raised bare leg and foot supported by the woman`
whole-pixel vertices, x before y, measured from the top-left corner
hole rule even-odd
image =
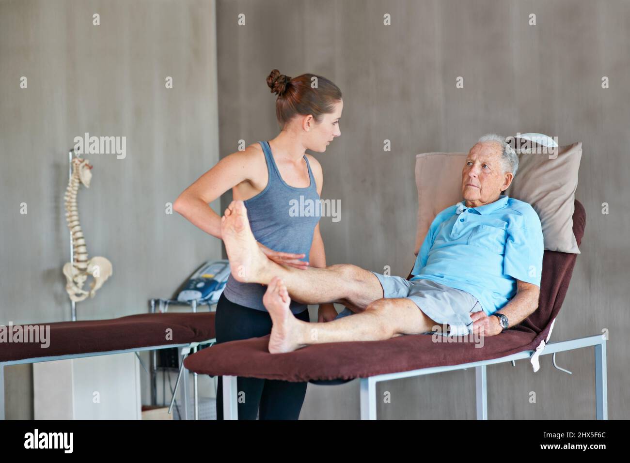
[[[269,260],[256,244],[242,201],[232,201],[226,209],[221,219],[221,235],[232,277],[239,282],[268,285],[273,277],[280,277],[291,297],[302,304],[341,302],[351,309],[365,309],[370,302],[383,297],[381,283],[374,273],[356,265],[299,270]]]

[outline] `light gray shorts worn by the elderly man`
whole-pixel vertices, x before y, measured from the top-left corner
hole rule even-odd
[[[402,277],[389,277],[381,275],[381,273],[372,273],[381,282],[384,297],[410,299],[437,324],[449,324],[449,333],[445,333],[442,327],[438,330],[444,335],[461,336],[472,333],[471,314],[483,310],[476,297],[461,289],[451,288],[432,280],[409,281]],[[337,318],[352,314],[350,309],[344,309]]]

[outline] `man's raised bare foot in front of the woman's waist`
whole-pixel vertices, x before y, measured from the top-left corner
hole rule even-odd
[[[265,283],[260,277],[266,256],[256,244],[243,201],[232,201],[227,207],[221,217],[221,237],[226,244],[232,277],[243,283]]]

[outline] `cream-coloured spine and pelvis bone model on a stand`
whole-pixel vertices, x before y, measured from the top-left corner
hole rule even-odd
[[[92,178],[88,159],[79,157],[72,158],[72,178],[68,182],[68,188],[64,200],[66,202],[66,220],[68,228],[72,233],[72,255],[74,262],[67,262],[64,265],[64,275],[66,275],[66,291],[74,302],[79,302],[86,297],[94,297],[107,278],[112,276],[112,263],[106,258],[96,256],[88,260],[88,249],[83,239],[83,231],[79,225],[79,214],[77,212],[77,191],[79,184],[83,183],[89,188],[89,181]],[[93,278],[89,292],[83,289],[88,276]]]

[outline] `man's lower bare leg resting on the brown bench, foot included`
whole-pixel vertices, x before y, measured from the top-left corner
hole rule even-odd
[[[409,299],[378,299],[363,312],[326,323],[298,320],[289,309],[290,301],[282,280],[273,278],[263,296],[273,322],[271,353],[291,352],[312,344],[386,340],[432,331],[436,325]]]

